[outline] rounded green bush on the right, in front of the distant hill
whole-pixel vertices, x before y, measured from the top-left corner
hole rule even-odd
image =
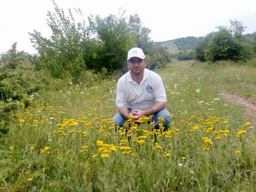
[[[251,57],[251,47],[242,36],[242,22],[230,21],[231,27],[217,27],[219,31],[206,35],[195,47],[195,58],[199,61],[239,61]]]

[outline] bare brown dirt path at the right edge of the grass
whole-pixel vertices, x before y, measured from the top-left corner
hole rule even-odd
[[[223,97],[232,104],[241,105],[244,108],[244,117],[251,122],[252,127],[256,126],[256,101],[252,98],[242,98],[233,92],[222,90]]]

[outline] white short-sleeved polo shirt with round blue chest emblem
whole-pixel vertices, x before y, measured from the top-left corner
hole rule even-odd
[[[165,87],[158,74],[144,70],[140,84],[133,81],[130,71],[117,82],[116,107],[126,106],[132,110],[147,110],[156,102],[166,102]]]

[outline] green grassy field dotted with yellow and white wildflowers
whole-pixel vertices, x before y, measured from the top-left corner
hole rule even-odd
[[[166,132],[146,117],[127,134],[114,131],[117,79],[54,81],[13,114],[0,146],[0,190],[255,191],[255,127],[223,98],[255,99],[255,69],[173,61],[157,70],[173,118]]]

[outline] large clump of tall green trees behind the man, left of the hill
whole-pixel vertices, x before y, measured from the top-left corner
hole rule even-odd
[[[142,26],[138,15],[130,16],[129,22],[123,16],[124,12],[106,18],[91,15],[87,26],[80,10],[76,12],[83,22],[78,23],[71,10],[68,11],[66,15],[54,2],[54,12],[47,15],[51,37],[44,38],[38,31],[30,34],[31,42],[40,54],[37,68],[46,66],[52,77],[64,78],[68,74],[73,82],[78,82],[85,70],[99,73],[106,69],[108,74],[123,71],[127,51],[136,46],[143,48],[146,54],[152,54],[150,29]]]

